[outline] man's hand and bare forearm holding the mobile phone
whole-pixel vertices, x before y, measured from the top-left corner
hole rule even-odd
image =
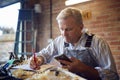
[[[60,63],[65,64],[63,65],[63,68],[67,68],[69,71],[77,74],[84,74],[85,78],[90,79],[90,80],[100,80],[98,71],[80,60],[72,57],[70,58],[72,62],[65,61],[65,60],[59,60]]]

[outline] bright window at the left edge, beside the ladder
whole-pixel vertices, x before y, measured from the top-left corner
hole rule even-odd
[[[0,8],[0,63],[13,52],[20,3]]]

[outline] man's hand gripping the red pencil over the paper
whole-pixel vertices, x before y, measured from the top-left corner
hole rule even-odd
[[[36,61],[36,62],[35,62]],[[40,65],[44,62],[44,59],[42,56],[37,56],[36,60],[34,60],[34,57],[32,56],[30,60],[30,68],[32,69],[40,69]]]

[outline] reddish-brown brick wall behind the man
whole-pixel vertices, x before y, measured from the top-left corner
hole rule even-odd
[[[65,8],[65,0],[53,0],[52,11],[52,38],[60,34],[56,16]],[[49,0],[40,1],[42,13],[40,14],[37,45],[41,50],[48,43],[50,37],[50,4]],[[119,0],[93,0],[91,2],[73,5],[82,11],[89,11],[91,17],[84,20],[84,25],[90,32],[103,37],[110,45],[117,70],[120,74],[120,1]],[[42,38],[41,38],[42,37]]]

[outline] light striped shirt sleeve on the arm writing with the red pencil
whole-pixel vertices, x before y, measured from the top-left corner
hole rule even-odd
[[[42,56],[45,61],[44,63],[49,63],[55,55],[63,52],[63,42],[62,36],[58,36],[46,48],[43,48],[37,56]]]

